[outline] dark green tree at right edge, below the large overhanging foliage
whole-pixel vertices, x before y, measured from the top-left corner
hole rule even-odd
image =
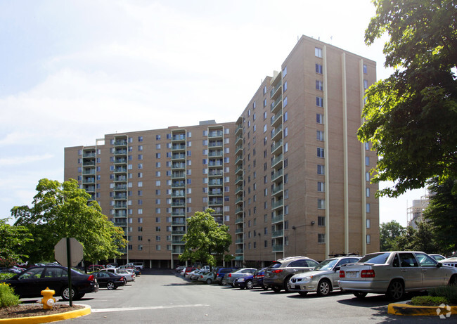
[[[425,219],[435,228],[440,252],[446,255],[457,251],[457,193],[453,191],[456,182],[454,179],[443,182],[432,179],[428,187],[429,205],[424,211]]]

